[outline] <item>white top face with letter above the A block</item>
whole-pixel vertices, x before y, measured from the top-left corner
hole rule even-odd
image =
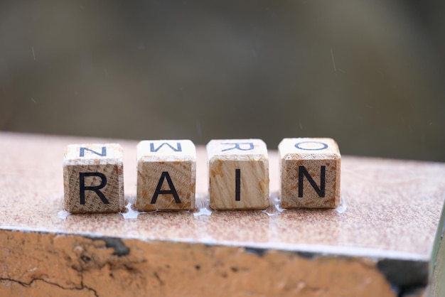
[[[196,161],[195,144],[188,139],[144,140],[136,147],[137,160]]]

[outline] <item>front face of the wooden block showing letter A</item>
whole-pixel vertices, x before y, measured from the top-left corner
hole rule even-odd
[[[194,210],[195,161],[138,162],[136,210]]]

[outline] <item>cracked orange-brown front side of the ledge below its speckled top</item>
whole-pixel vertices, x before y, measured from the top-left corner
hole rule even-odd
[[[394,296],[363,258],[10,231],[0,241],[1,296]]]

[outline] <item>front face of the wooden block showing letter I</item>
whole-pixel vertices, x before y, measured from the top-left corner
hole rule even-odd
[[[214,210],[265,210],[269,207],[269,162],[209,162],[210,207]]]

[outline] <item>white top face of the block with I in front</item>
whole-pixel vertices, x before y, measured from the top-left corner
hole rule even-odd
[[[213,139],[207,144],[208,160],[219,158],[236,159],[240,156],[245,160],[261,158],[269,160],[267,146],[261,139]]]

